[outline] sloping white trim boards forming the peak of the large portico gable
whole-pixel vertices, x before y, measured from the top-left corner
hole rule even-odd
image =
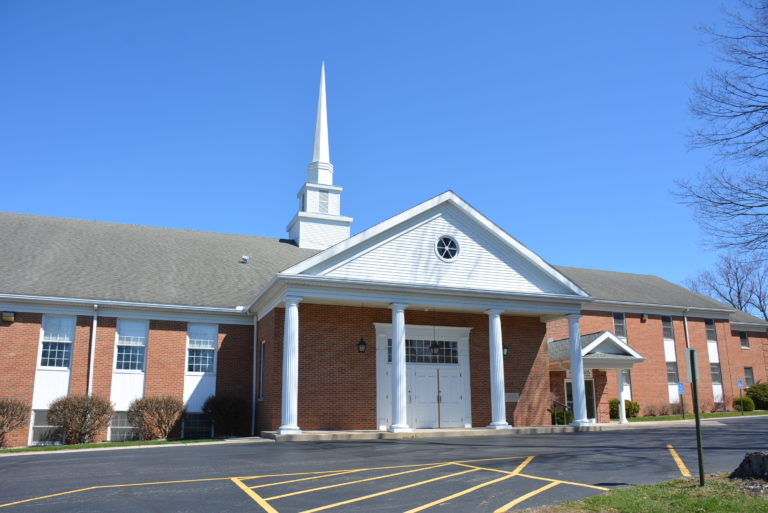
[[[332,246],[327,250],[318,253],[313,257],[310,257],[306,260],[303,260],[302,262],[299,262],[293,267],[289,267],[288,269],[283,271],[283,274],[303,273],[323,262],[326,262],[336,257],[340,253],[348,250],[349,248],[362,244],[370,240],[371,238],[386,232],[387,230],[390,230],[430,209],[436,208],[442,203],[447,203],[447,202],[450,202],[451,204],[453,204],[462,213],[464,213],[466,216],[474,220],[477,224],[485,228],[497,239],[504,242],[508,247],[510,247],[515,252],[523,256],[523,258],[527,259],[536,267],[540,268],[544,273],[549,275],[550,278],[554,279],[555,281],[558,281],[569,290],[572,290],[578,296],[589,298],[589,294],[587,294],[587,292],[584,291],[581,287],[579,287],[574,282],[566,278],[565,275],[563,275],[560,271],[558,271],[553,266],[548,264],[546,261],[544,261],[544,259],[542,259],[533,251],[528,249],[517,239],[515,239],[514,237],[509,235],[507,232],[502,230],[493,221],[485,217],[478,210],[476,210],[467,202],[465,202],[463,199],[461,199],[453,191],[446,191],[438,196],[435,196],[432,199],[429,199],[423,203],[420,203],[419,205],[416,205],[415,207],[409,208],[404,212],[401,212],[393,217],[390,217],[389,219],[382,221],[381,223],[375,226],[372,226],[371,228],[368,228],[367,230],[364,230],[358,233],[357,235],[350,237],[349,239],[342,241],[336,244],[335,246]]]

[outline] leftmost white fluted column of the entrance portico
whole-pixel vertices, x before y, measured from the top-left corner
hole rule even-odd
[[[299,297],[285,298],[283,329],[283,409],[280,435],[301,433],[299,420]]]

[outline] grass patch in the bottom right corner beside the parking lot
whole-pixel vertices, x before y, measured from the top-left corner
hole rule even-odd
[[[708,476],[705,486],[698,478],[678,479],[652,486],[611,490],[576,502],[525,510],[529,513],[768,513],[765,496],[750,495],[724,475]]]

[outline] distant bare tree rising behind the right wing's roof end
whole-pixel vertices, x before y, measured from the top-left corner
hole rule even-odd
[[[702,271],[685,285],[700,294],[718,299],[734,308],[759,313],[764,319],[768,303],[768,284],[762,261],[723,255],[711,271]]]

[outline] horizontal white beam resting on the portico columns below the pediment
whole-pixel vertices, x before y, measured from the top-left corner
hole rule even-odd
[[[426,304],[469,310],[498,309],[509,312],[578,313],[586,298],[558,294],[521,294],[456,289],[423,285],[361,282],[319,276],[278,275],[270,290],[255,302],[251,311],[263,318],[285,296],[354,302]]]

